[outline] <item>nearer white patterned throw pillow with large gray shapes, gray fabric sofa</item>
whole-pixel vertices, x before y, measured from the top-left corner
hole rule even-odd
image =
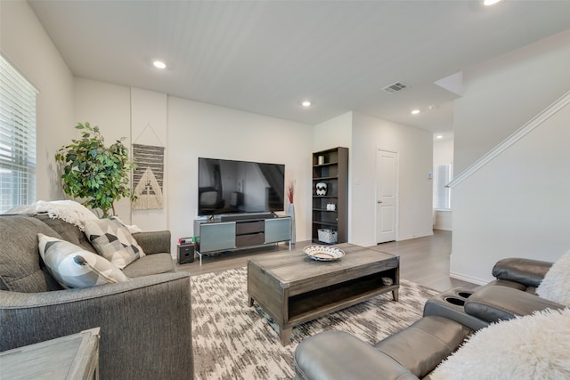
[[[129,281],[115,265],[100,255],[69,241],[37,234],[39,254],[47,270],[62,287],[94,287]]]

